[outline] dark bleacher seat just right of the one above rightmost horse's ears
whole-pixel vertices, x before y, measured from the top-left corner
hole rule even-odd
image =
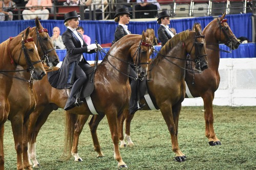
[[[245,13],[245,0],[229,0],[228,14],[242,14]]]

